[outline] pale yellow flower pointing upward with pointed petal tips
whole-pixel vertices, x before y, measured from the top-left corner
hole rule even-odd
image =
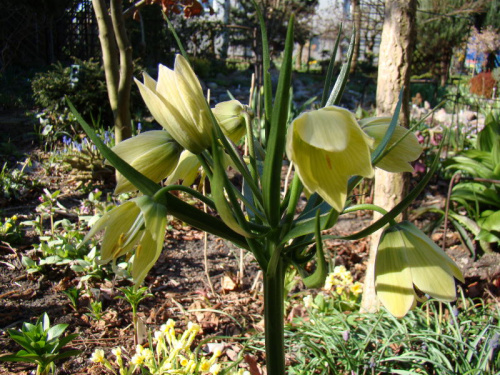
[[[182,147],[194,154],[212,142],[212,119],[203,91],[181,55],[174,69],[159,65],[158,82],[144,73],[144,83],[135,80],[151,114]]]

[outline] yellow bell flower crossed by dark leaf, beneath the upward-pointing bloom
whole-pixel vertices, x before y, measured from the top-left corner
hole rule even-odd
[[[182,147],[168,132],[153,130],[120,142],[112,150],[143,175],[160,182],[177,166]],[[116,182],[115,194],[137,190],[121,174]]]

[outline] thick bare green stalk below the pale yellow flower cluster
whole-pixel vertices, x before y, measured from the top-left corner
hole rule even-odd
[[[273,276],[264,273],[264,323],[267,373],[285,375],[285,265],[280,259]]]

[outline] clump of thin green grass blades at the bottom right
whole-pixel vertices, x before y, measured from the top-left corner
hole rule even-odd
[[[289,374],[498,374],[500,308],[429,300],[396,319],[308,309],[288,327]]]

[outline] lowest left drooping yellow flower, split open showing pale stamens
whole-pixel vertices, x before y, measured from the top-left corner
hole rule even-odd
[[[103,262],[116,260],[135,248],[132,277],[140,284],[163,248],[167,209],[149,196],[141,196],[106,212],[83,242],[105,230],[101,245]]]

